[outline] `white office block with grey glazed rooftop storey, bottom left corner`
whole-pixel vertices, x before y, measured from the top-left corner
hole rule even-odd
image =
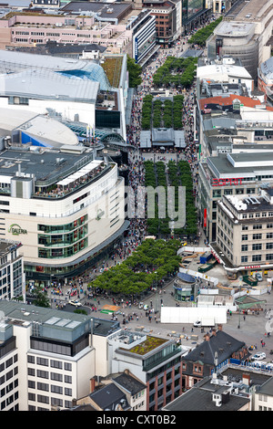
[[[4,300],[0,312],[1,411],[64,410],[90,393],[94,338],[118,323]]]

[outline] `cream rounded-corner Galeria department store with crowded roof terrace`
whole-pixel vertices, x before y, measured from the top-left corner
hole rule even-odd
[[[6,157],[13,158],[8,174]],[[74,277],[123,235],[124,179],[116,163],[93,150],[6,151],[2,162],[1,234],[24,245],[28,279]]]

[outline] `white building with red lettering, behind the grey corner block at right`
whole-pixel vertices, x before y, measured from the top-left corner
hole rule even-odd
[[[199,163],[197,204],[209,242],[217,236],[217,200],[223,195],[257,194],[263,183],[272,183],[270,159],[271,153],[242,152],[218,154]]]

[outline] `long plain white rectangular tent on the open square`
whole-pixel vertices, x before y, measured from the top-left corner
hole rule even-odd
[[[226,307],[161,307],[161,323],[195,323],[215,326],[227,323]]]

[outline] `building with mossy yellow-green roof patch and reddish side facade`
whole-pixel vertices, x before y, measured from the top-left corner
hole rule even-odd
[[[160,410],[181,394],[182,354],[176,340],[142,332],[121,331],[108,340],[109,372],[128,370],[144,382],[148,411]]]

